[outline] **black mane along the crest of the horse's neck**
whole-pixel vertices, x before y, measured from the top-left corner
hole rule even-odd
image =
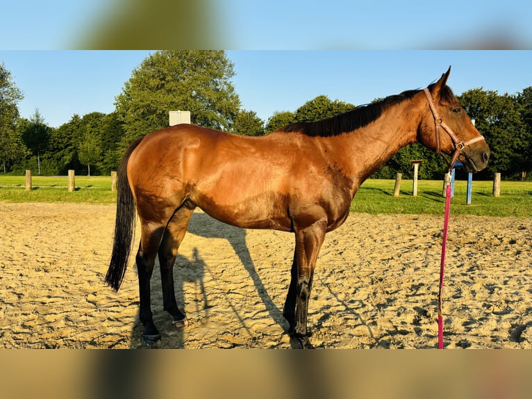
[[[285,132],[300,132],[307,136],[338,136],[339,134],[354,131],[355,129],[366,126],[379,118],[388,106],[397,104],[406,99],[411,99],[420,91],[421,90],[407,90],[399,95],[391,95],[385,99],[376,101],[373,104],[357,106],[351,111],[341,113],[340,115],[329,117],[324,120],[318,120],[316,122],[295,122],[288,124],[285,127],[281,127],[279,130]],[[443,91],[445,92],[447,90]],[[450,92],[450,95],[454,97],[452,92]]]

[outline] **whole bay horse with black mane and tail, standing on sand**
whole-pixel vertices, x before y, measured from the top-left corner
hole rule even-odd
[[[347,219],[360,184],[413,142],[454,153],[452,163],[460,161],[468,172],[488,163],[488,145],[446,84],[450,71],[424,90],[401,92],[326,120],[289,124],[261,137],[178,124],[132,142],[117,174],[115,235],[105,282],[114,291],[122,284],[136,208],[144,341],[160,339],[149,284],[157,256],[164,309],[174,323],[188,325],[176,304],[173,266],[199,207],[229,225],[294,233],[283,316],[288,333],[302,348],[312,348],[307,311],[316,259],[325,234]]]

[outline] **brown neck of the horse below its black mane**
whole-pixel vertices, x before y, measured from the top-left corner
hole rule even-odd
[[[416,104],[414,99],[401,101],[367,126],[339,136],[342,151],[350,152],[352,173],[360,184],[399,149],[417,140],[421,115]]]

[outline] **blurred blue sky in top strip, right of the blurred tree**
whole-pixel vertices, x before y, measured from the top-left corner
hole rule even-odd
[[[223,17],[239,49],[530,49],[531,10],[519,0],[226,0]]]

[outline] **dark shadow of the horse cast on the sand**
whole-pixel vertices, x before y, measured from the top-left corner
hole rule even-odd
[[[194,212],[190,223],[188,225],[187,236],[194,235],[203,238],[222,238],[226,239],[235,253],[238,255],[242,266],[248,272],[251,277],[251,282],[256,288],[260,300],[262,300],[265,309],[268,311],[269,316],[279,324],[284,331],[288,330],[288,322],[283,317],[282,309],[279,309],[272,298],[270,297],[267,289],[265,288],[262,279],[256,272],[251,254],[246,243],[246,230],[239,227],[233,227],[226,225],[223,222],[219,222],[214,218],[203,212]],[[187,238],[185,238],[187,239]],[[189,238],[190,239],[190,238]],[[201,300],[195,303],[196,314],[201,314],[202,318],[208,319],[210,304],[208,300],[209,293],[206,292],[203,284],[206,273],[210,272],[205,261],[200,255],[201,247],[194,247],[192,250],[192,259],[183,257],[178,254],[176,262],[174,263],[174,291],[176,293],[176,301],[180,309],[184,309],[185,295],[184,283],[194,282],[199,286]],[[287,266],[288,267],[288,266]],[[289,271],[288,271],[289,272]],[[288,290],[288,286],[286,287]],[[190,305],[189,305],[190,306]],[[228,307],[231,311],[235,312],[239,320],[243,320],[243,314],[251,311],[251,309],[235,309],[231,302],[228,302]],[[160,283],[160,271],[159,264],[156,261],[156,265],[153,269],[153,275],[151,277],[151,309],[153,312],[153,321],[157,325],[162,335],[161,341],[156,343],[156,348],[186,348],[185,332],[183,327],[176,328],[172,325],[172,317],[163,310],[163,295],[161,291]],[[186,309],[185,309],[186,313]],[[192,321],[192,320],[190,320]],[[192,324],[192,323],[191,323]],[[242,322],[242,325],[244,323]],[[193,325],[185,328],[194,328]],[[135,323],[132,330],[132,348],[144,348],[142,342],[142,332],[144,326],[140,323],[138,314],[135,318]],[[299,345],[296,341],[290,340],[293,347]]]

